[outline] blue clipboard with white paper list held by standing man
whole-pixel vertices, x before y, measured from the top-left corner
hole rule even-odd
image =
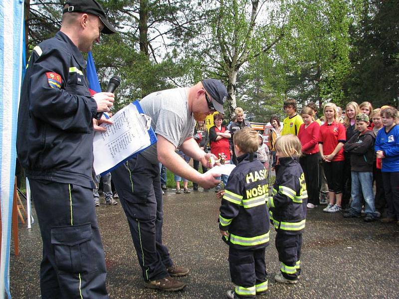
[[[156,142],[151,118],[143,114],[138,101],[129,104],[110,118],[112,125],[102,124],[106,132],[94,135],[94,171],[105,174],[128,158]]]

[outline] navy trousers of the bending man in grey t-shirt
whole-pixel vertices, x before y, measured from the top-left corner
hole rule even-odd
[[[163,200],[159,163],[141,154],[112,171],[112,179],[129,223],[145,281],[169,276],[173,266],[168,248],[162,244]]]

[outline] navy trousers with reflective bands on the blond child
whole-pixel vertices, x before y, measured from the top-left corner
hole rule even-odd
[[[286,279],[297,280],[301,275],[301,247],[302,233],[289,235],[277,231],[276,249],[281,262],[280,271]]]

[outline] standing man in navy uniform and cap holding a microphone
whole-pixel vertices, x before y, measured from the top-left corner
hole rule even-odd
[[[97,1],[67,1],[60,31],[34,48],[21,89],[17,152],[43,241],[42,299],[108,298],[91,169],[94,130],[110,123],[93,118],[114,95],[90,96],[80,52],[100,32],[116,30]]]

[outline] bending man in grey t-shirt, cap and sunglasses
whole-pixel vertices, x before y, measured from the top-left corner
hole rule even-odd
[[[163,201],[159,162],[172,172],[196,182],[204,188],[216,186],[218,174],[199,173],[187,164],[175,150],[209,165],[211,153],[200,149],[193,138],[196,121],[204,120],[215,111],[224,113],[227,96],[218,80],[206,79],[188,88],[175,88],[152,93],[140,101],[144,113],[152,118],[151,127],[157,134],[157,144],[112,172],[115,187],[125,211],[137,257],[147,288],[178,291],[186,284],[171,276],[189,273],[177,267],[162,244]]]

